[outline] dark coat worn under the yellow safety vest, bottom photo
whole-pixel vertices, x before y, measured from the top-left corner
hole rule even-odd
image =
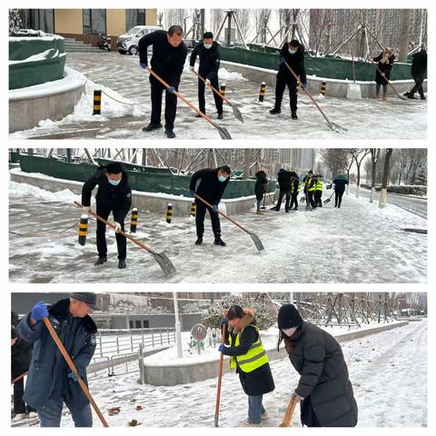
[[[253,327],[255,321],[251,315],[246,316],[247,326],[243,329],[241,334],[240,343],[237,347],[226,347],[223,354],[226,356],[241,356],[250,350],[253,342],[256,342],[259,333]],[[226,332],[228,343],[228,335],[236,332]],[[271,392],[275,389],[274,380],[272,379],[272,372],[269,363],[265,363],[260,368],[252,372],[243,372],[241,368],[236,367],[236,373],[239,374],[239,380],[243,386],[243,391],[247,395],[263,395],[264,393]]]

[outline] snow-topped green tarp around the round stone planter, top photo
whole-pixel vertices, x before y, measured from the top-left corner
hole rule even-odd
[[[62,79],[65,66],[64,39],[10,36],[9,61],[13,61],[9,63],[9,89]]]

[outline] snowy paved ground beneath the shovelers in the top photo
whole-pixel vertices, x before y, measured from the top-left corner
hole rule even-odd
[[[150,85],[136,56],[116,53],[69,53],[66,64],[85,74],[86,95],[76,105],[74,114],[60,122],[45,121],[40,127],[11,134],[23,139],[165,139],[163,131],[144,134],[142,128],[150,117]],[[263,104],[257,102],[260,83],[243,79],[223,65],[220,80],[226,83],[226,96],[241,104],[244,124],[234,119],[232,110],[224,105],[223,125],[234,139],[425,139],[427,135],[427,104],[421,100],[402,102],[390,97],[387,102],[360,101],[326,97],[319,101],[332,122],[347,127],[347,134],[335,134],[306,95],[300,95],[299,120],[290,119],[288,97],[285,95],[281,115],[268,111],[274,102],[274,90],[267,88]],[[102,89],[102,115],[92,115],[94,84]],[[180,91],[197,104],[197,78],[185,66]],[[206,111],[216,118],[212,91],[206,92]],[[112,100],[107,94],[122,103]],[[286,94],[286,93],[285,93]],[[130,103],[123,104],[123,103]],[[132,105],[132,103],[136,103]],[[213,126],[194,117],[193,110],[182,102],[178,105],[174,132],[178,139],[220,139]],[[393,134],[394,133],[394,134]]]

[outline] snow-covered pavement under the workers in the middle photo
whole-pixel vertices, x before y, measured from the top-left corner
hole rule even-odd
[[[164,252],[177,273],[165,279],[154,259],[128,242],[127,268],[117,269],[114,233],[107,233],[108,262],[94,267],[95,223],[88,241],[77,244],[74,226],[80,196],[49,193],[25,183],[10,183],[9,275],[12,282],[426,282],[427,235],[404,228],[427,228],[423,218],[388,204],[344,196],[312,212],[253,211],[233,216],[257,233],[265,250],[222,218],[227,247],[213,245],[206,217],[204,243],[195,246],[193,218],[140,211],[136,237]],[[330,192],[324,192],[327,198]],[[388,196],[389,202],[389,196]],[[130,217],[127,217],[126,223]],[[128,225],[126,226],[128,228]]]

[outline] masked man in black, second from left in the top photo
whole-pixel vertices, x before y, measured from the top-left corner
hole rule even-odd
[[[195,65],[195,59],[197,56],[200,58],[200,65],[198,66],[198,74],[206,80],[206,84],[212,84],[215,89],[219,89],[218,84],[218,70],[220,69],[220,52],[218,44],[213,41],[212,32],[206,32],[203,35],[203,42],[195,45],[191,59],[189,61],[189,68],[193,70]],[[200,111],[206,114],[206,101],[204,99],[205,84],[200,77],[198,78],[198,105]],[[218,112],[218,119],[223,119],[223,99],[213,93],[215,100],[216,111]],[[195,115],[197,118],[201,118],[202,115]]]

